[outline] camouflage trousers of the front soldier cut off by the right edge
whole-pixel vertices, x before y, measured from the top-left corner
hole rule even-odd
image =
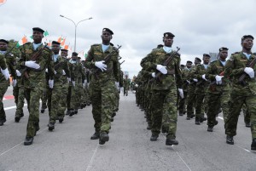
[[[225,122],[225,134],[230,136],[236,135],[236,126],[238,117],[240,115],[241,107],[243,104],[247,105],[247,111],[251,117],[251,133],[252,138],[256,138],[256,96],[240,96],[236,94],[230,94],[230,110]]]

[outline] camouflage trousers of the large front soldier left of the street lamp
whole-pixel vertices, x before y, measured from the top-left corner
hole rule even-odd
[[[36,131],[39,130],[39,105],[40,98],[43,93],[42,88],[24,88],[29,117],[26,126],[26,137],[34,137]]]

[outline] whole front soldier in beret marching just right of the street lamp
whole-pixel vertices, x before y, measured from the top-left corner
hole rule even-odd
[[[95,120],[96,132],[90,139],[99,139],[103,145],[109,140],[108,132],[111,127],[111,116],[113,113],[115,82],[119,80],[118,53],[114,53],[108,63],[105,63],[105,56],[113,52],[111,46],[113,31],[108,28],[102,30],[102,44],[94,44],[90,47],[85,67],[93,69],[94,72],[90,81],[90,98],[92,114]]]

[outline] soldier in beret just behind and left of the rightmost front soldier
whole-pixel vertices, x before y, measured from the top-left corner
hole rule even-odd
[[[229,78],[223,77],[224,66],[228,56],[228,48],[219,48],[218,60],[212,61],[207,68],[205,78],[209,80],[208,88],[208,111],[207,111],[207,131],[212,132],[213,127],[217,125],[216,117],[218,115],[219,105],[222,108],[224,122],[227,120],[230,104],[230,84]],[[221,81],[219,81],[221,80]]]

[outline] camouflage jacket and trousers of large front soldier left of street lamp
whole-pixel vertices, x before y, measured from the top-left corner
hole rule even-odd
[[[25,62],[32,59],[32,55],[36,54],[41,44],[37,49],[33,48],[32,43],[26,43],[21,48],[20,66],[25,67]],[[39,130],[39,100],[46,87],[45,85],[45,69],[48,68],[49,77],[52,79],[54,76],[53,61],[51,59],[52,52],[49,48],[44,48],[36,62],[40,66],[38,70],[28,68],[27,73],[29,77],[25,77],[21,73],[22,83],[24,85],[25,97],[29,109],[29,117],[26,127],[26,137],[32,138]]]

